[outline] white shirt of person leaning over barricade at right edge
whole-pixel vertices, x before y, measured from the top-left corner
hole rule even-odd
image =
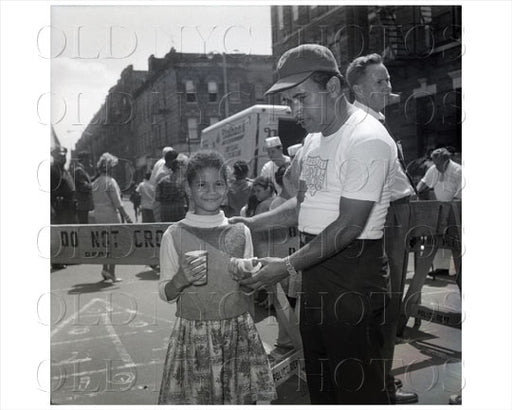
[[[446,170],[441,173],[432,165],[421,181],[429,188],[434,188],[438,201],[451,201],[461,199],[462,193],[462,167],[448,160]]]

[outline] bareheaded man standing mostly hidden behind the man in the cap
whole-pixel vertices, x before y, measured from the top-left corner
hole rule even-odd
[[[391,100],[391,78],[379,54],[369,54],[354,59],[348,66],[346,79],[354,94],[354,106],[385,124],[382,113]],[[406,175],[404,161],[399,161],[401,152],[397,150],[397,170],[392,180],[390,207],[384,230],[384,244],[389,260],[391,302],[388,308],[385,330],[386,378],[391,402],[394,404],[416,403],[418,395],[402,390],[402,382],[391,375],[396,332],[400,315],[400,304],[407,273],[406,238],[409,231],[411,210],[409,200],[414,189]]]

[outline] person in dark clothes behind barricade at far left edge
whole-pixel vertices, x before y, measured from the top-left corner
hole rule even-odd
[[[50,167],[50,201],[52,207],[51,223],[55,225],[76,224],[75,184],[67,169],[64,147],[55,147],[51,151],[53,163]]]

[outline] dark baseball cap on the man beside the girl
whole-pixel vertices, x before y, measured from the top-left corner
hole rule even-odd
[[[278,93],[295,87],[315,71],[339,74],[338,63],[331,50],[320,44],[302,44],[286,51],[277,62],[279,79],[265,95]]]

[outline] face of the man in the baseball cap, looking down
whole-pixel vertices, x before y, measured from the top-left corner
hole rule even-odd
[[[295,120],[307,132],[321,132],[334,121],[334,103],[327,90],[319,88],[311,78],[281,93],[292,109]]]

